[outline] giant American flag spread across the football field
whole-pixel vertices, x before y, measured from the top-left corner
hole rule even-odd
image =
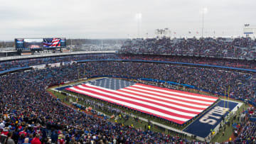
[[[66,90],[126,106],[143,113],[183,124],[207,109],[218,98],[122,79],[104,78]]]

